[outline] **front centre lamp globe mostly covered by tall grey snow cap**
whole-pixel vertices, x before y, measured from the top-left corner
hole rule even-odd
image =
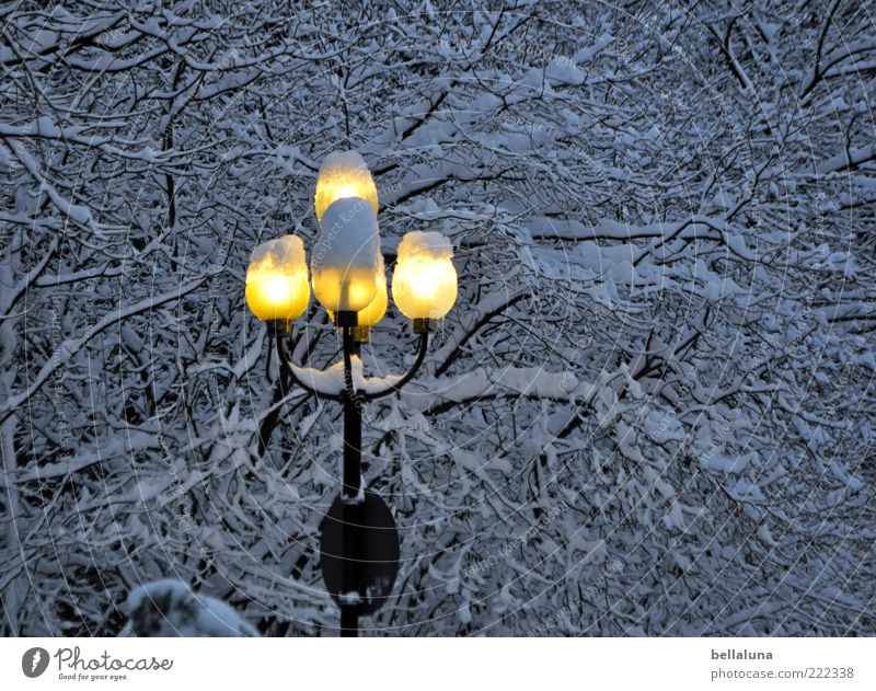
[[[310,270],[313,292],[330,312],[358,312],[378,290],[381,273],[377,216],[365,199],[337,199],[323,214]]]

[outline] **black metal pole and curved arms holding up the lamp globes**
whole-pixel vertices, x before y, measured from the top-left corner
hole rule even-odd
[[[339,401],[344,405],[344,464],[341,516],[338,517],[342,531],[339,550],[341,581],[338,591],[331,592],[330,590],[330,592],[339,603],[341,635],[345,637],[357,636],[359,633],[359,615],[374,611],[379,607],[379,604],[377,607],[370,604],[372,591],[377,592],[377,597],[382,600],[385,598],[382,591],[391,590],[392,588],[392,584],[389,584],[389,588],[385,587],[385,584],[382,587],[380,584],[373,586],[368,583],[368,578],[364,573],[368,562],[367,554],[364,554],[364,545],[368,539],[367,529],[369,522],[364,516],[366,493],[362,490],[361,482],[362,405],[366,401],[401,391],[402,387],[414,377],[426,357],[429,331],[433,327],[431,321],[428,319],[413,320],[414,333],[419,335],[417,357],[411,369],[396,383],[388,384],[377,391],[359,392],[353,381],[353,358],[359,357],[359,343],[356,339],[357,313],[337,312],[335,325],[341,330],[344,355],[344,391],[341,394],[321,392],[306,383],[306,371],[292,364],[287,352],[289,345],[287,339],[291,337],[291,324],[289,322],[273,322],[269,330],[269,334],[276,343],[280,367],[291,381],[316,396]],[[397,537],[395,540],[397,544]],[[324,564],[323,575],[325,576]]]

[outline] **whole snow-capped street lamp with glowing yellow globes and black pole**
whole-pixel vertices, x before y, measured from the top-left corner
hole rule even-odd
[[[341,607],[341,635],[356,636],[361,614],[385,601],[397,573],[399,537],[392,515],[361,479],[361,410],[367,401],[401,391],[426,357],[429,333],[457,300],[450,241],[438,232],[408,232],[392,277],[392,297],[419,338],[416,359],[403,375],[382,381],[362,376],[359,346],[387,312],[389,296],[377,222],[378,194],[371,173],[355,151],[327,156],[314,197],[320,233],[311,253],[286,235],[258,245],[246,270],[246,303],[268,329],[268,358],[276,348],[280,368],[309,393],[344,406],[341,494],[321,526],[323,580]],[[291,358],[292,323],[307,309],[310,284],[341,332],[338,367],[320,372]],[[269,359],[268,359],[269,365]],[[337,377],[336,385],[332,377]],[[319,381],[318,381],[319,379]],[[327,382],[326,382],[327,380]]]

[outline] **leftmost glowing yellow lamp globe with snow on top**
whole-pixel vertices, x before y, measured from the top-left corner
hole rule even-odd
[[[292,321],[310,300],[301,238],[286,235],[260,244],[246,268],[246,304],[257,319]]]

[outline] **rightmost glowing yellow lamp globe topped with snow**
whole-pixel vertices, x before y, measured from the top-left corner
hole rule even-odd
[[[453,247],[439,232],[413,231],[399,244],[392,298],[407,319],[443,319],[457,301]]]

